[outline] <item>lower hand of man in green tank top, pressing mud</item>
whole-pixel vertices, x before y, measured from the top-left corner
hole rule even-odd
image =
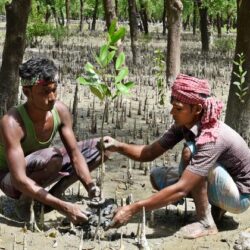
[[[74,225],[80,225],[88,221],[88,213],[81,210],[77,204],[68,203],[66,216]]]

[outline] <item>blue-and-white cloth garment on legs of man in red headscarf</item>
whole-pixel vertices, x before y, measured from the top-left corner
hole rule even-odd
[[[195,144],[192,142],[186,142],[186,146],[194,154],[196,151]],[[173,181],[173,174],[171,175],[171,181],[169,181],[167,167],[157,167],[152,170],[151,178],[154,183],[160,189],[163,189],[178,181]],[[181,160],[179,164],[179,176],[184,171],[183,162]],[[208,199],[212,205],[220,207],[231,213],[242,213],[250,206],[250,194],[241,194],[230,174],[220,164],[215,164],[213,168],[209,170],[208,177]]]

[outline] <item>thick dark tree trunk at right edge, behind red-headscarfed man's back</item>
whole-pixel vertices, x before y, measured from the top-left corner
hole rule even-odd
[[[250,143],[250,1],[237,0],[237,36],[229,97],[226,109],[226,123],[238,131],[243,138]],[[239,55],[243,55],[245,61],[240,68]],[[244,83],[239,87],[239,76],[243,76]],[[236,83],[236,84],[234,84]],[[242,89],[243,88],[243,89]],[[245,89],[244,102],[240,101],[239,94]]]

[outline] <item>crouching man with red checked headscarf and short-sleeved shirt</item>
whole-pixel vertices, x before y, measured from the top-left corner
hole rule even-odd
[[[171,171],[166,167],[154,168],[151,183],[159,192],[119,208],[111,227],[126,223],[143,207],[157,209],[190,194],[197,220],[180,232],[185,238],[216,234],[216,223],[226,211],[241,213],[250,206],[250,150],[236,131],[219,121],[222,103],[211,97],[206,80],[178,75],[172,85],[171,104],[175,123],[152,144],[104,139],[109,150],[142,162],[152,161],[185,141],[179,177],[169,179]]]

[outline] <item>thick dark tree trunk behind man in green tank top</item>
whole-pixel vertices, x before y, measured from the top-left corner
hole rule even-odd
[[[31,10],[31,0],[7,3],[6,35],[0,70],[0,116],[18,99],[19,71],[25,50],[25,32]]]

